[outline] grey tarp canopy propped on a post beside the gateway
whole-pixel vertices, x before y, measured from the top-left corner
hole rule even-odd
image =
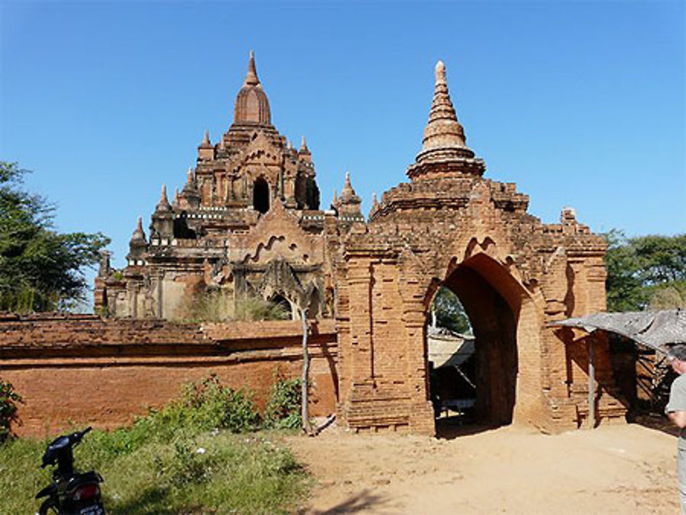
[[[552,322],[551,326],[578,327],[584,331],[610,331],[626,336],[659,352],[667,352],[667,344],[686,343],[686,311],[634,311],[628,313],[594,313],[579,318]]]

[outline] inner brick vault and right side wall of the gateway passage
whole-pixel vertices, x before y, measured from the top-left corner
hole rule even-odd
[[[487,248],[493,248],[493,240]],[[540,322],[534,298],[517,273],[488,254],[477,252],[453,265],[442,285],[462,302],[472,324],[477,350],[477,414],[482,420],[509,424],[540,418],[540,377],[520,374],[540,370]]]

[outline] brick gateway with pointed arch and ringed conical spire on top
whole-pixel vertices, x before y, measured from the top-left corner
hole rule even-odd
[[[438,62],[411,182],[375,202],[335,263],[338,411],[348,427],[434,433],[425,332],[441,285],[473,325],[477,416],[552,431],[587,417],[587,342],[547,324],[605,308],[604,240],[569,208],[560,224],[542,224],[526,195],[482,178],[485,168],[466,146]],[[598,411],[619,417],[606,342],[597,346]]]

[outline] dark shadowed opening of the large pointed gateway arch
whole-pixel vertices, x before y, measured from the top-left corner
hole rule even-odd
[[[499,263],[484,254],[477,254],[455,267],[442,283],[442,289],[459,299],[473,339],[468,343],[469,338],[465,338],[452,360],[460,363],[462,374],[456,370],[448,385],[440,385],[441,377],[445,381],[447,374],[438,375],[438,387],[429,380],[429,396],[434,405],[434,397],[439,397],[438,435],[458,435],[512,423],[518,372],[517,318],[521,304],[514,283]],[[436,292],[434,304],[441,299],[442,289]],[[427,318],[431,319],[431,311]],[[428,339],[428,328],[426,333]],[[469,333],[464,336],[468,337]],[[429,343],[426,348],[430,378],[432,373],[434,377],[437,374],[431,372],[429,365]],[[444,398],[440,398],[441,394]]]

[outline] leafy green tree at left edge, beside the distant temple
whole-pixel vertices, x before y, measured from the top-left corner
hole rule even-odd
[[[25,173],[0,161],[0,310],[63,309],[84,299],[82,268],[95,265],[110,240],[56,232],[54,206],[21,189]]]

